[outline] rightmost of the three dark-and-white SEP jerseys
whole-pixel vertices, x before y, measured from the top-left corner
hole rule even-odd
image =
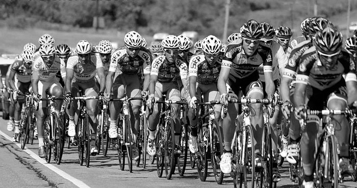
[[[197,77],[197,82],[200,84],[217,83],[219,72],[221,70],[223,53],[219,54],[217,61],[210,65],[205,58],[205,55],[192,56],[188,69],[188,76]]]

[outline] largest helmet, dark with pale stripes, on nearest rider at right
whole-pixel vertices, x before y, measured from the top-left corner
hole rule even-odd
[[[314,45],[318,52],[334,54],[341,50],[342,35],[333,26],[327,25],[322,31],[315,34]]]

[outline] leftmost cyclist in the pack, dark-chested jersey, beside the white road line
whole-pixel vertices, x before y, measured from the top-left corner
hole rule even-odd
[[[13,142],[18,142],[19,125],[21,119],[21,109],[22,104],[25,102],[23,96],[19,94],[29,94],[29,88],[31,85],[31,65],[32,56],[34,53],[30,50],[24,50],[22,52],[22,60],[15,61],[11,65],[11,71],[9,75],[10,88],[13,91],[13,100],[15,103],[15,113],[14,113],[14,123],[15,123],[15,133],[12,137]],[[16,75],[16,80],[15,80]]]

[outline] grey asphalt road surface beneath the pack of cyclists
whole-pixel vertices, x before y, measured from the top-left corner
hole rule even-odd
[[[196,169],[189,166],[184,177],[177,173],[171,180],[158,178],[155,165],[133,167],[133,173],[119,169],[116,152],[108,156],[91,157],[90,167],[80,166],[77,147],[65,149],[61,165],[53,160],[47,164],[37,156],[37,140],[21,150],[19,144],[11,142],[13,132],[6,130],[7,121],[0,120],[0,187],[233,187],[233,179],[226,175],[222,185],[218,185],[209,169],[206,182],[201,182]],[[147,162],[148,163],[148,162]],[[298,187],[289,179],[288,164],[280,169],[282,181],[277,187]],[[164,172],[165,174],[165,172]],[[340,187],[357,187],[349,177]]]

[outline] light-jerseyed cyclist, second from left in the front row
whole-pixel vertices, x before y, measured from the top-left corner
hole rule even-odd
[[[56,56],[56,49],[52,44],[46,43],[41,45],[39,49],[40,56],[33,61],[32,64],[32,91],[34,100],[39,101],[41,98],[47,98],[47,93],[50,96],[60,98],[63,96],[63,88],[60,85],[56,74],[59,70],[65,71],[64,62]],[[48,92],[47,92],[48,90]],[[39,102],[39,108],[36,111],[36,126],[38,130],[38,155],[45,157],[43,130],[44,130],[44,109],[46,108],[45,101]],[[62,100],[55,100],[55,111],[60,114]]]

